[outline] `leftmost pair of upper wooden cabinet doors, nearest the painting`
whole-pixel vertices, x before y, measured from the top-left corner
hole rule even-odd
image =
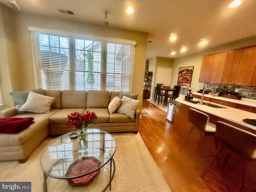
[[[203,57],[198,82],[221,83],[228,52],[221,52]]]

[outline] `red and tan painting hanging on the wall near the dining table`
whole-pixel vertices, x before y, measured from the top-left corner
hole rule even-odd
[[[190,87],[194,66],[180,67],[178,74],[178,86]]]

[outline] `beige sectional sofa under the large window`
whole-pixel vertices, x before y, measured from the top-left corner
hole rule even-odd
[[[33,117],[34,124],[18,134],[0,134],[0,160],[19,160],[25,162],[29,154],[50,134],[60,135],[73,131],[67,128],[67,115],[72,112],[83,113],[86,110],[95,112],[98,116],[90,128],[106,132],[138,132],[140,110],[136,109],[134,118],[125,114],[108,111],[110,101],[120,92],[106,90],[43,90],[45,96],[54,97],[50,113],[40,114],[28,112],[17,114],[16,108],[0,112],[0,118]]]

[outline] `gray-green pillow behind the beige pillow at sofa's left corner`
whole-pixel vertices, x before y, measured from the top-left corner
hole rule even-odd
[[[31,91],[34,93],[44,95],[43,90],[41,88],[34,89]],[[29,93],[29,91],[19,91],[19,92],[10,93],[10,95],[12,96],[12,99],[14,100],[14,102],[16,104],[16,110],[17,110],[18,114],[27,113],[26,111],[20,111],[20,108],[22,105],[24,105],[24,103],[26,103],[26,101],[28,99],[28,93]]]

